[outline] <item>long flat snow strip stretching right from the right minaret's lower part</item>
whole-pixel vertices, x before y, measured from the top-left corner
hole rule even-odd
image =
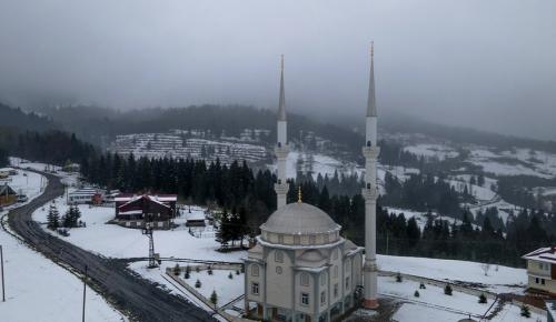
[[[481,283],[486,290],[495,293],[507,292],[509,289],[523,291],[527,284],[525,269],[499,265],[496,270],[496,265],[490,265],[485,275],[481,263],[477,262],[390,255],[378,255],[377,261],[383,271],[449,282]]]

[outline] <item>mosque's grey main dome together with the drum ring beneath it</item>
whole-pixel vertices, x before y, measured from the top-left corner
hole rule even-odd
[[[279,208],[260,227],[266,241],[307,245],[335,242],[340,229],[326,212],[302,202]]]

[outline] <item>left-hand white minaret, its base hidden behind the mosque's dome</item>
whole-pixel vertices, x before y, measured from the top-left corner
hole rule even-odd
[[[281,72],[280,72],[280,99],[278,103],[278,141],[275,148],[276,159],[278,160],[277,178],[278,182],[275,183],[275,191],[277,197],[277,208],[286,205],[286,195],[288,194],[289,185],[286,182],[286,161],[288,159],[289,145],[287,135],[287,121],[286,121],[286,92],[284,90],[284,54],[281,56]]]

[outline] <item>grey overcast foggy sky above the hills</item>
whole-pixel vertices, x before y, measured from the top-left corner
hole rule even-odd
[[[0,99],[379,113],[556,140],[556,1],[0,0]]]

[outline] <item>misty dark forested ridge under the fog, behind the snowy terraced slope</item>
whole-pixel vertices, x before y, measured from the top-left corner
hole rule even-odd
[[[170,129],[209,130],[216,135],[239,135],[244,129],[267,129],[276,137],[276,113],[271,110],[242,105],[192,105],[188,108],[150,108],[115,111],[93,107],[48,108],[37,110],[61,123],[63,129],[100,144],[99,138],[117,134],[166,132]],[[312,121],[308,117],[288,113],[288,134],[297,138],[299,131],[312,131],[348,150],[359,151],[363,137],[342,127]],[[355,144],[354,144],[355,143]]]

